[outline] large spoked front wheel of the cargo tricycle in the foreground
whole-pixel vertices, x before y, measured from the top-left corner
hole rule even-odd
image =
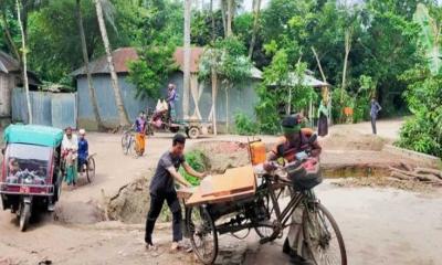
[[[303,232],[307,252],[317,265],[347,265],[343,235],[330,212],[318,202],[306,206]]]

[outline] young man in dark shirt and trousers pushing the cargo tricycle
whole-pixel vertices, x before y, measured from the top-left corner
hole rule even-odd
[[[171,250],[176,251],[179,248],[178,243],[182,240],[181,231],[181,206],[178,201],[177,191],[175,190],[175,181],[178,183],[190,187],[190,183],[178,172],[180,166],[182,166],[189,174],[197,178],[204,178],[206,173],[199,173],[194,171],[187,162],[183,156],[186,145],[185,136],[177,134],[173,137],[172,148],[165,152],[158,161],[157,170],[150,182],[150,209],[146,220],[146,235],[145,242],[146,247],[154,248],[152,232],[155,222],[159,213],[161,212],[162,204],[167,201],[170,212],[172,213],[172,229],[173,229],[173,241]]]

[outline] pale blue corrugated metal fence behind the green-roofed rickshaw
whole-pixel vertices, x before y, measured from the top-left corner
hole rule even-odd
[[[30,92],[33,124],[57,128],[76,127],[76,94]],[[24,91],[12,89],[12,121],[28,123]]]

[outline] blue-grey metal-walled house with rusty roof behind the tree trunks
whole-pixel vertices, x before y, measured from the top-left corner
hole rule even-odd
[[[191,49],[191,91],[194,92],[196,100],[198,102],[199,115],[198,117],[194,108],[194,99],[191,94],[189,98],[189,117],[201,118],[202,121],[209,121],[211,119],[211,107],[212,107],[212,92],[211,84],[198,81],[199,60],[203,52],[202,47]],[[119,88],[122,97],[130,119],[135,119],[140,110],[147,108],[155,109],[158,98],[137,98],[136,87],[128,81],[129,70],[127,64],[131,61],[138,60],[137,52],[134,47],[122,47],[113,52],[113,60],[115,64],[115,71],[117,72]],[[171,73],[168,81],[165,83],[161,89],[161,95],[166,97],[167,84],[173,83],[177,86],[178,103],[177,103],[177,117],[183,119],[183,50],[178,47],[173,54],[176,64],[179,70]],[[110,74],[107,66],[105,56],[102,56],[90,65],[94,89],[98,102],[98,112],[101,118],[106,127],[115,127],[119,124],[118,114],[115,104],[114,93],[112,89]],[[87,77],[85,68],[78,68],[71,74],[75,78],[77,98],[78,98],[78,126],[88,129],[96,129],[96,123],[94,118],[93,107],[90,99]],[[251,117],[254,117],[254,106],[257,102],[255,93],[256,86],[261,82],[261,72],[257,68],[252,70],[252,76],[250,80],[235,84],[229,92],[229,123],[234,121],[234,114],[242,112]],[[190,93],[190,92],[189,92]],[[246,99],[246,100],[244,100]],[[225,127],[225,89],[220,85],[217,94],[217,121],[219,130],[222,132]]]

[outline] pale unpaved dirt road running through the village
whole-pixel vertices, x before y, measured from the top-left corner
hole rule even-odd
[[[385,123],[388,129],[382,136],[394,139],[398,125]],[[354,129],[365,131],[365,127],[367,124]],[[379,130],[382,134],[382,124]],[[28,232],[21,233],[15,218],[0,211],[0,265],[43,261],[52,264],[193,264],[191,254],[167,251],[171,236],[167,225],[157,233],[159,252],[147,253],[143,244],[143,225],[96,223],[94,202],[101,200],[103,192],[113,194],[155,167],[170,145],[170,135],[149,139],[147,155],[138,159],[123,156],[118,135],[91,134],[88,138],[91,151],[97,152],[96,180],[74,191],[64,190],[57,204],[57,221],[53,215],[40,216]],[[223,136],[217,140],[231,138]],[[234,137],[234,140],[246,141],[246,137]],[[272,137],[264,140],[272,140]],[[442,264],[441,190],[415,193],[341,188],[326,181],[317,188],[317,195],[343,231],[349,264]],[[281,252],[281,241],[263,246],[256,242],[253,234],[245,241],[250,248],[245,264],[288,264]]]

